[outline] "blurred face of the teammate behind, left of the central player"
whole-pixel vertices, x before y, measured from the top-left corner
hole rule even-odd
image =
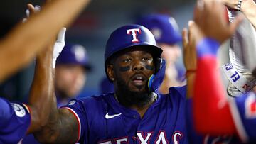
[[[85,69],[80,65],[58,65],[55,68],[55,91],[73,98],[84,86]]]

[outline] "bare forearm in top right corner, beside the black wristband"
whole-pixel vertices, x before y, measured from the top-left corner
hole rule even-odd
[[[242,1],[241,11],[256,28],[256,4],[252,0]]]

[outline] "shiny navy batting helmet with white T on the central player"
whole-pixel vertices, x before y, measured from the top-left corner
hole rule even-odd
[[[117,28],[107,40],[105,48],[105,72],[110,58],[122,50],[134,48],[137,45],[146,45],[147,50],[154,52],[156,57],[161,57],[161,48],[156,46],[154,35],[149,29],[139,25],[126,25]]]

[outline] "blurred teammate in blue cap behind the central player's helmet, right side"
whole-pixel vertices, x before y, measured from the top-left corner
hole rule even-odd
[[[181,48],[178,46],[178,42],[181,42],[182,39],[178,31],[178,24],[174,18],[164,14],[144,16],[137,23],[153,33],[156,45],[163,50],[161,56],[166,60],[166,73],[159,92],[167,94],[169,87],[181,85],[176,68],[176,62],[181,57]]]

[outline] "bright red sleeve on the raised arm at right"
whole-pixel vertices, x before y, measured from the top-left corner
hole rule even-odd
[[[198,132],[210,135],[235,133],[225,93],[217,71],[216,56],[199,57],[193,94],[193,117]]]

